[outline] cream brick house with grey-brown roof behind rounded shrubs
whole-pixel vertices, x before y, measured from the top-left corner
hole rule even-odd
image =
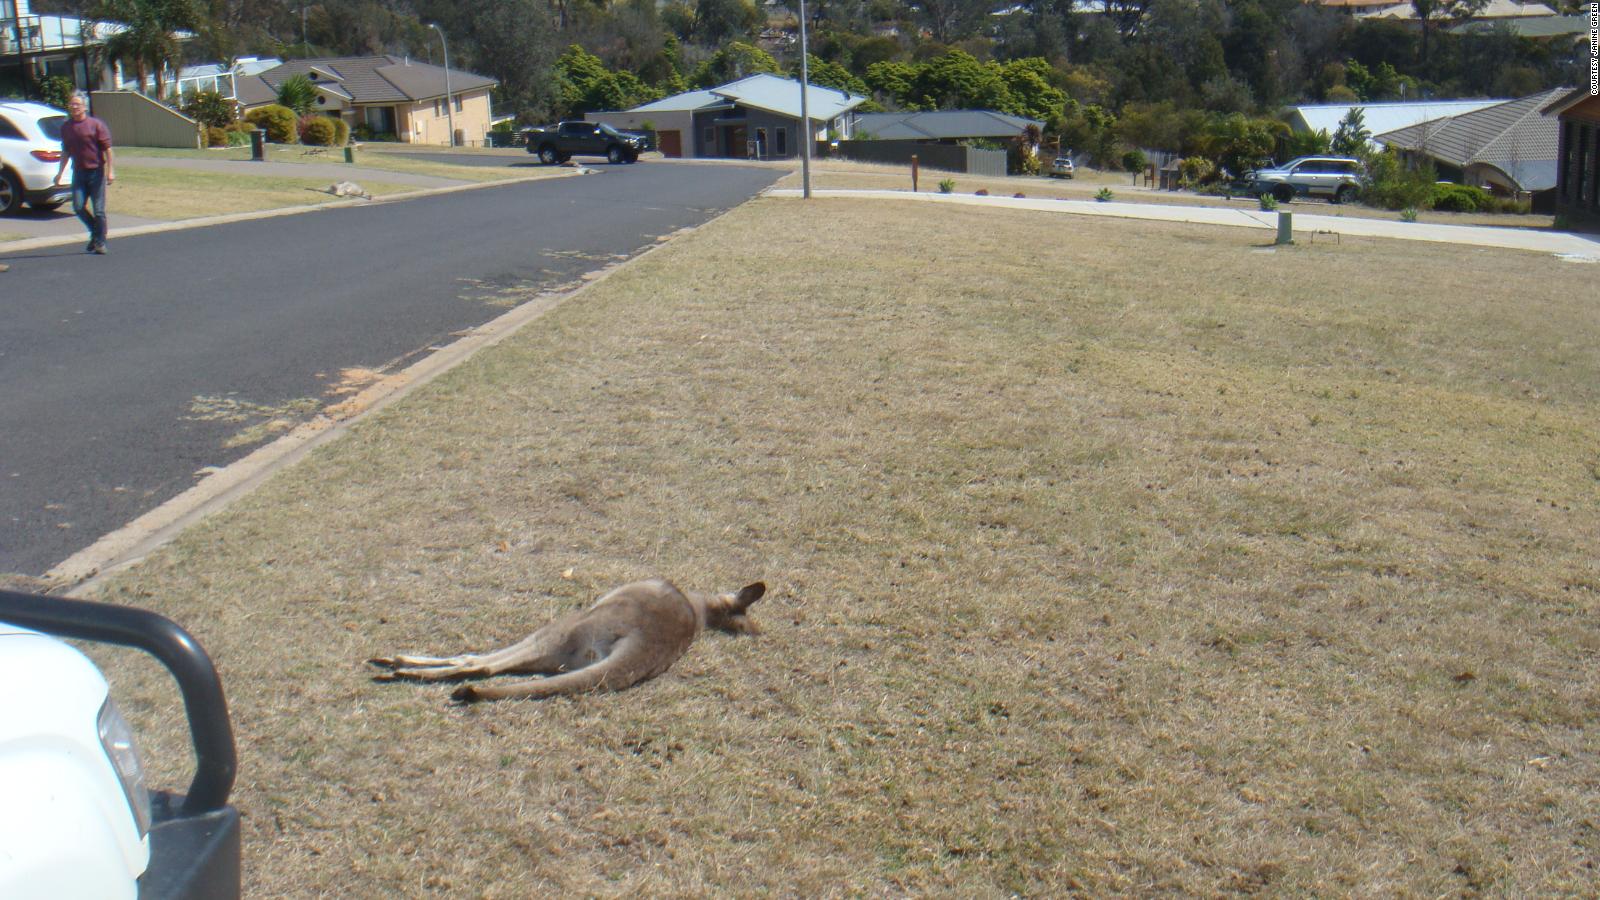
[[[483,146],[491,123],[490,91],[498,80],[402,56],[291,59],[266,72],[235,78],[240,110],[277,102],[291,75],[317,88],[317,110],[344,119],[357,133],[389,135],[410,144]],[[446,102],[448,93],[448,102]]]

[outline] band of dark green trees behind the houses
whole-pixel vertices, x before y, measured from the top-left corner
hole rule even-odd
[[[867,109],[979,107],[1072,146],[1192,149],[1285,104],[1523,96],[1578,83],[1576,40],[1446,26],[1486,0],[1411,0],[1426,27],[1302,0],[814,0],[816,83]],[[1576,11],[1581,0],[1565,3]],[[131,27],[139,72],[237,56],[411,56],[501,82],[496,110],[547,122],[752,72],[797,74],[797,5],[752,0],[35,0]],[[187,30],[194,40],[171,35]],[[1586,45],[1584,45],[1586,48]],[[1189,144],[1187,147],[1184,144]]]

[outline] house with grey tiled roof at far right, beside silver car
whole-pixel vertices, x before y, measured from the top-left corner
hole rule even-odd
[[[1557,88],[1498,102],[1376,139],[1402,155],[1430,160],[1440,178],[1554,207],[1558,122],[1541,110],[1565,93]]]

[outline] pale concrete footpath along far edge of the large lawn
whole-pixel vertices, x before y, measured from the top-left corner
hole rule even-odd
[[[800,191],[768,191],[770,197],[800,197]],[[909,191],[811,191],[813,197],[853,197],[872,200],[914,200],[925,203],[968,203],[1011,210],[1040,210],[1048,213],[1072,213],[1080,216],[1114,216],[1122,219],[1154,219],[1168,223],[1219,224],[1254,227],[1275,232],[1277,213],[1221,207],[1173,207],[1162,203],[1123,203],[1096,200],[1054,200],[1026,197],[978,197],[974,194],[912,194]],[[1299,240],[1318,234],[1350,237],[1390,237],[1395,240],[1429,240],[1435,243],[1461,243],[1470,247],[1501,247],[1507,250],[1533,250],[1554,253],[1563,259],[1600,263],[1600,235],[1581,235],[1560,231],[1536,231],[1523,227],[1448,226],[1366,219],[1358,216],[1318,216],[1294,213],[1294,235]]]

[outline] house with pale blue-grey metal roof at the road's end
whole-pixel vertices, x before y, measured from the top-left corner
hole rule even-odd
[[[800,82],[758,74],[722,86],[685,91],[618,112],[590,112],[589,122],[654,130],[662,155],[685,159],[792,159],[800,141],[846,138],[854,109],[867,98],[808,85],[800,122]]]

